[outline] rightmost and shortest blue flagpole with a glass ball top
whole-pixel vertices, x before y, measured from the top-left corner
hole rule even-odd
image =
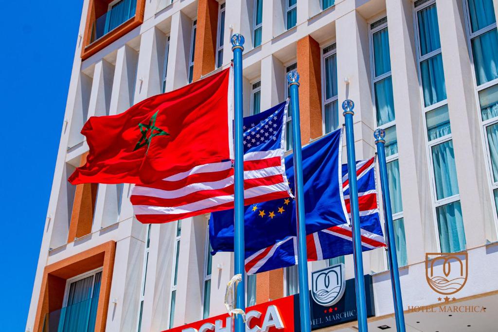
[[[401,286],[399,284],[398,258],[396,243],[394,242],[394,227],[392,225],[391,197],[389,194],[389,181],[387,179],[387,164],[385,162],[385,131],[376,129],[373,132],[380,171],[380,186],[382,188],[382,202],[387,232],[387,259],[389,260],[389,273],[391,275],[392,300],[394,303],[394,317],[396,318],[396,331],[405,332],[403,301],[401,299]]]

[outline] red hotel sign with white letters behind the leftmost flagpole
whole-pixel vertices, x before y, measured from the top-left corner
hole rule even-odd
[[[248,307],[246,313],[246,332],[294,332],[293,296]],[[232,319],[225,314],[163,332],[232,332]]]

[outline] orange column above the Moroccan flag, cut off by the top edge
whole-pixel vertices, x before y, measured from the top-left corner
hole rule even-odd
[[[194,82],[215,70],[218,6],[216,0],[199,0],[197,4]]]

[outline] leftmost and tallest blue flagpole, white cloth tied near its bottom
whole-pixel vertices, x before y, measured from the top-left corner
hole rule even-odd
[[[243,117],[242,111],[242,51],[244,51],[244,36],[236,33],[230,38],[232,51],[234,52],[234,107],[235,107],[235,274],[242,275],[242,281],[237,286],[236,307],[246,310],[245,287],[244,287],[244,145],[243,141]],[[245,332],[246,325],[241,315],[236,315],[235,332]]]

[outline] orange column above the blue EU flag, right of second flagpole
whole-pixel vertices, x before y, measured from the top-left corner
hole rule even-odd
[[[297,41],[297,71],[299,72],[299,111],[301,142],[323,135],[322,130],[322,71],[318,42],[309,35]]]

